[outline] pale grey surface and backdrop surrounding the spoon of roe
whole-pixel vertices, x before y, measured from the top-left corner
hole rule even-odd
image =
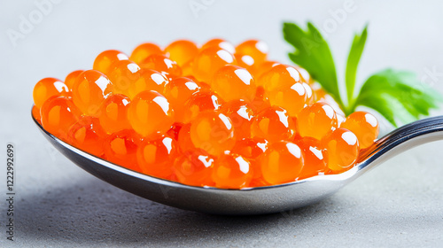
[[[430,72],[443,73],[443,2],[356,0],[342,19],[334,12],[343,0],[59,2],[14,45],[8,30],[19,32],[21,16],[29,19],[39,9],[34,1],[0,1],[0,161],[6,143],[15,144],[17,156],[14,243],[4,232],[0,164],[0,246],[441,246],[443,142],[407,151],[319,204],[225,217],[159,205],[101,182],[51,148],[29,113],[36,81],[64,79],[90,68],[102,50],[130,53],[145,41],[204,43],[221,36],[239,43],[253,37],[269,44],[270,58],[289,63],[284,20],[310,19],[323,27],[338,72],[354,32],[369,23],[359,81],[394,66],[415,71],[442,92],[443,76]],[[190,4],[204,8],[193,11]],[[327,26],[331,22],[337,25]]]

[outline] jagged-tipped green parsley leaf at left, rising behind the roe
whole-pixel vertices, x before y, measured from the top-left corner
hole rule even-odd
[[[310,22],[307,31],[293,23],[284,23],[284,39],[296,50],[289,53],[291,60],[305,68],[342,108],[343,101],[338,89],[337,73],[328,43]]]

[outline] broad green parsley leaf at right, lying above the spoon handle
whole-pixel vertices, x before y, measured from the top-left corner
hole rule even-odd
[[[369,77],[350,111],[354,112],[357,105],[368,106],[397,127],[400,122],[429,115],[442,100],[437,91],[418,81],[416,74],[386,69]]]

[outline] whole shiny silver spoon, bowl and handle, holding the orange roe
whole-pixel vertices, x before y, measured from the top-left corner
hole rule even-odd
[[[380,138],[361,152],[358,163],[342,174],[317,175],[280,185],[222,190],[194,187],[140,174],[99,159],[52,136],[35,120],[35,124],[58,151],[77,166],[105,182],[139,197],[165,205],[216,214],[243,215],[277,213],[328,198],[370,168],[402,151],[422,143],[443,139],[443,116],[417,120]]]

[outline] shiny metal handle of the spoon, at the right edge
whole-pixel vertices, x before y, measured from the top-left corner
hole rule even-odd
[[[359,171],[376,167],[417,145],[438,140],[443,140],[443,116],[414,121],[393,130],[362,151],[359,156]]]

